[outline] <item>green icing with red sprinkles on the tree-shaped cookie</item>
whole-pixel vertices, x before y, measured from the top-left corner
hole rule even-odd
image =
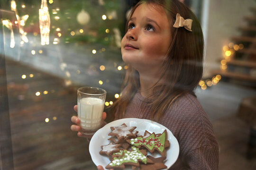
[[[155,136],[155,133],[153,133],[146,138],[130,139],[130,144],[133,146],[145,145],[149,150],[156,148],[158,151],[163,152],[165,149],[165,132],[160,136]]]

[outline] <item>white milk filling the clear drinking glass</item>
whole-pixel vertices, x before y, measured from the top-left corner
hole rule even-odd
[[[101,126],[101,116],[104,102],[98,98],[82,98],[77,101],[77,114],[80,126],[86,130],[98,129]]]

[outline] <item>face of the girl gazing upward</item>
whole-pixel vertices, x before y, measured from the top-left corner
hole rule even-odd
[[[160,69],[171,43],[171,26],[165,9],[139,5],[122,39],[122,59],[140,71]]]

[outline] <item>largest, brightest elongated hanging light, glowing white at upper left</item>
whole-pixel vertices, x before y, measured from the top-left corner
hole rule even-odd
[[[47,7],[47,1],[42,0],[41,8],[39,9],[39,24],[41,33],[41,44],[49,44],[49,34],[50,34],[50,14]]]

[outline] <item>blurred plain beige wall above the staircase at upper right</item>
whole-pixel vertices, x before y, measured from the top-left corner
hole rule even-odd
[[[204,78],[212,76],[211,70],[219,69],[222,47],[239,35],[238,26],[246,26],[244,17],[252,15],[250,7],[255,0],[209,0]]]

